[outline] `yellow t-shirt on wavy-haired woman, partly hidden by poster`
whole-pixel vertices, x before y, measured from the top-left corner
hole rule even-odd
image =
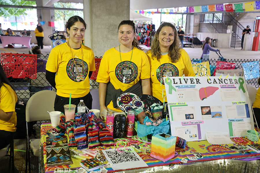
[[[172,63],[169,61],[168,54],[161,55],[160,61],[157,61],[157,58],[154,59],[151,57],[152,54],[150,51],[147,52],[148,59],[151,66],[151,93],[154,97],[159,99],[161,102],[164,101],[162,96],[162,90],[164,87],[164,76],[195,76],[195,73],[192,69],[192,63],[190,61],[190,57],[184,49],[181,49],[181,57],[177,61],[177,63]],[[170,63],[169,63],[170,62]],[[169,64],[168,64],[169,63]],[[168,71],[169,70],[169,71]],[[168,72],[166,72],[168,71]],[[161,84],[162,79],[162,84]],[[164,90],[164,96],[166,92]],[[165,102],[167,98],[165,97]]]

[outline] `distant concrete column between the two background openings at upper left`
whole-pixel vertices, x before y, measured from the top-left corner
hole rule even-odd
[[[36,5],[37,6],[42,6],[42,1],[36,0]],[[51,6],[53,7],[53,5]],[[44,15],[42,15],[44,14]],[[40,21],[45,21],[45,24],[42,26],[43,27],[43,33],[44,33],[44,38],[43,38],[43,44],[46,45],[51,45],[51,40],[49,39],[49,35],[54,33],[54,27],[49,27],[48,22],[54,22],[55,20],[55,15],[54,15],[54,10],[42,10],[42,9],[37,9],[37,16],[38,16],[38,22]]]

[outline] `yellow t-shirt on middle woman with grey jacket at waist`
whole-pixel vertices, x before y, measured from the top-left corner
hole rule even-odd
[[[120,54],[115,48],[107,50],[101,59],[99,73],[96,81],[108,83],[109,81],[115,89],[125,91],[140,79],[150,78],[150,67],[147,55],[138,48],[132,51]],[[107,108],[120,112],[119,108],[114,108],[111,101]]]

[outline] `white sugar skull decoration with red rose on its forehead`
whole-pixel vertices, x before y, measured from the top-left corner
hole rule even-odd
[[[123,93],[117,98],[117,106],[127,114],[128,110],[134,108],[144,109],[144,102],[133,93]]]

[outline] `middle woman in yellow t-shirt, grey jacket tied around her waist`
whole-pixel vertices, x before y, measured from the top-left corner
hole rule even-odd
[[[122,93],[151,94],[150,66],[147,55],[138,46],[135,24],[123,20],[118,26],[119,46],[105,52],[96,81],[99,82],[100,111],[124,114],[116,101]]]

